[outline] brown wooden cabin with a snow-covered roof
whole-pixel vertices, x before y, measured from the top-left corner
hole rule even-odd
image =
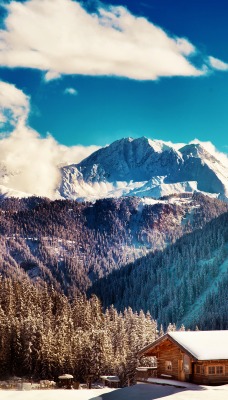
[[[169,332],[139,356],[157,358],[157,377],[205,385],[228,383],[228,330]]]

